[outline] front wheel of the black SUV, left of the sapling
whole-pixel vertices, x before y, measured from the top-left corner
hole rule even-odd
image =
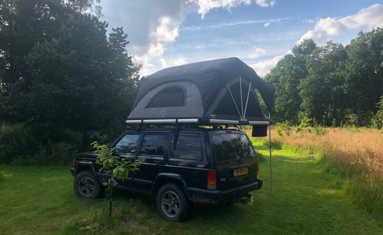
[[[104,192],[104,187],[90,171],[81,171],[75,176],[73,189],[79,198],[99,198]]]

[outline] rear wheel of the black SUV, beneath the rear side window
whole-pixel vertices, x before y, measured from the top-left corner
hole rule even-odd
[[[173,183],[162,185],[156,196],[158,213],[166,220],[184,222],[192,212],[190,202],[181,188]]]

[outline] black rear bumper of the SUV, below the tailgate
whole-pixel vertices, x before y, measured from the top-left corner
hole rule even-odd
[[[203,190],[195,187],[183,187],[183,190],[190,201],[203,203],[220,203],[235,197],[247,195],[249,192],[259,190],[262,187],[262,180],[235,187],[230,190]]]

